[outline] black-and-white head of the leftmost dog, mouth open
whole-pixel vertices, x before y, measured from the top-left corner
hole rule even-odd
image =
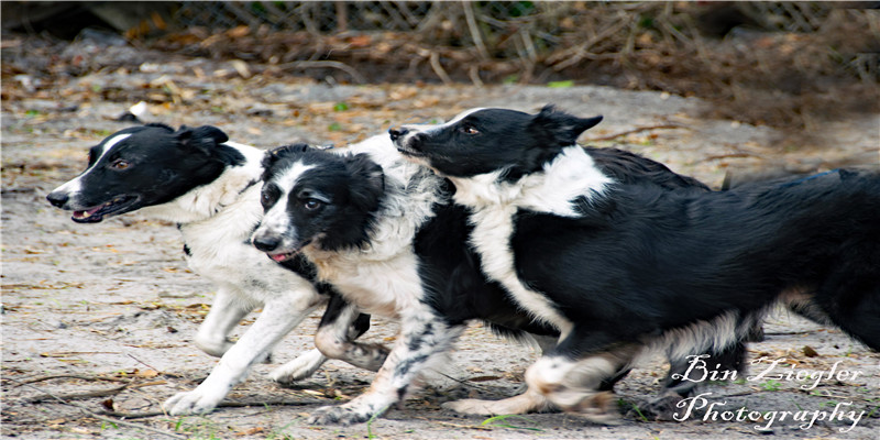
[[[92,146],[86,170],[46,198],[74,211],[73,220],[80,223],[162,205],[242,163],[241,153],[222,145],[227,141],[222,131],[208,125],[121,130]]]

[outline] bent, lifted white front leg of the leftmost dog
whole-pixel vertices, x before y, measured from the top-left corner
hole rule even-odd
[[[232,289],[220,287],[208,316],[196,333],[196,346],[212,356],[222,356],[232,346],[229,333],[254,306],[244,302]]]

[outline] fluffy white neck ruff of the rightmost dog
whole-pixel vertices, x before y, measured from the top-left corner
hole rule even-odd
[[[580,216],[573,201],[600,197],[614,180],[596,167],[579,145],[563,148],[540,172],[516,182],[502,179],[504,170],[471,177],[450,177],[454,200],[475,210],[499,206],[528,209],[563,217]]]

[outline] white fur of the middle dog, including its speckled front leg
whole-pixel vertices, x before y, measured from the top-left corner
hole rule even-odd
[[[433,205],[441,201],[440,177],[406,162],[388,136],[369,139],[340,153],[366,153],[382,166],[385,193],[378,220],[362,248],[324,251],[314,243],[301,252],[316,264],[319,278],[330,283],[345,300],[365,312],[400,320],[394,349],[370,391],[348,404],[319,408],[311,417],[312,422],[348,425],[366,421],[398,402],[400,393],[411,388],[419,373],[449,349],[463,328],[450,328],[426,304],[413,248],[418,228],[433,217]],[[289,182],[292,177],[296,176],[283,178]],[[278,186],[289,191],[293,183]],[[277,205],[286,205],[287,197],[284,194]],[[273,213],[274,208],[267,216]],[[316,343],[324,354],[366,353],[365,362],[375,361],[370,358],[375,351],[360,352],[363,344],[346,342],[338,333],[319,332]]]

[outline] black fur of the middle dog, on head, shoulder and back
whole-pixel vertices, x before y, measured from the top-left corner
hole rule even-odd
[[[656,186],[659,190],[682,193],[704,193],[708,188],[691,177],[681,176],[668,167],[637,154],[614,148],[587,148],[597,166],[609,175],[618,176],[622,182],[634,185]],[[299,234],[300,245],[320,237],[321,248],[326,242],[338,245],[355,246],[369,240],[367,231],[375,221],[375,207],[367,204],[345,202],[349,191],[363,191],[371,188],[354,175],[346,175],[345,163],[349,156],[311,151],[307,148],[283,147],[267,155],[264,164],[266,185],[264,186],[264,207],[286,202],[292,223]],[[278,188],[273,188],[273,180],[296,162],[316,165],[316,168],[302,173],[298,178],[298,187],[289,194],[288,200],[278,200]],[[367,167],[370,168],[370,167]],[[446,183],[446,191],[451,194],[454,187]],[[377,189],[377,186],[372,186]],[[305,198],[304,198],[305,194]],[[302,205],[310,195],[318,194],[331,200],[321,207],[320,215],[314,215]],[[380,195],[381,197],[381,195]],[[343,215],[344,212],[344,215]],[[416,234],[414,246],[419,264],[419,275],[426,292],[426,300],[437,311],[439,319],[448,326],[463,326],[469,320],[482,320],[495,332],[510,338],[520,338],[525,332],[539,336],[558,336],[551,327],[536,321],[514,302],[506,292],[495,282],[487,280],[481,271],[480,256],[466,244],[472,227],[468,223],[470,210],[455,204],[438,204],[435,217],[424,224]],[[255,239],[257,248],[270,251],[275,243],[261,243]],[[718,358],[716,361],[739,370],[745,356],[745,346],[733,351],[730,359]],[[676,365],[670,374],[686,369]],[[681,370],[681,371],[680,371]],[[609,378],[607,387],[622,378]],[[675,387],[678,381],[669,380],[669,386]],[[682,395],[688,389],[675,389]]]

